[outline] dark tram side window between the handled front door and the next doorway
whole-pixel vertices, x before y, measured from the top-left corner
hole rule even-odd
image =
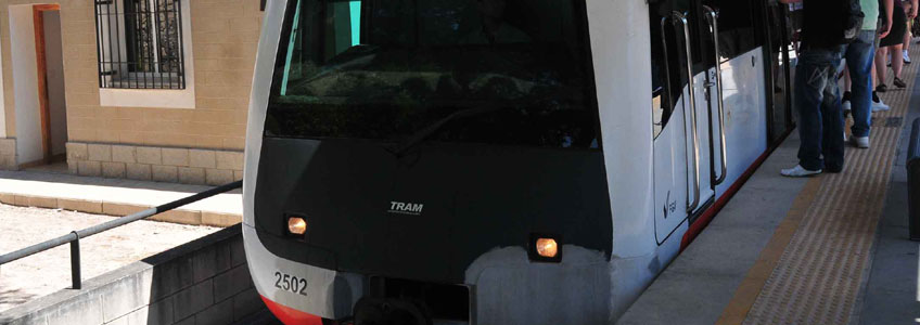
[[[703,0],[719,13],[719,57],[728,60],[744,54],[758,46],[754,30],[754,1]],[[710,38],[705,38],[710,42]]]

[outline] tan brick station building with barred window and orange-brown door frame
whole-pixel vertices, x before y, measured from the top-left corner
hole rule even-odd
[[[0,169],[242,179],[260,5],[0,0]]]

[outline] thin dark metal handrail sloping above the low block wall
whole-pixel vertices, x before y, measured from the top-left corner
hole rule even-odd
[[[126,216],[126,217],[122,217],[122,218],[118,218],[118,219],[115,219],[115,220],[112,220],[112,221],[103,222],[103,223],[100,223],[100,224],[97,224],[97,225],[93,225],[93,226],[90,226],[90,227],[87,227],[87,229],[84,229],[84,230],[74,231],[74,232],[71,232],[69,234],[66,234],[66,235],[63,235],[63,236],[60,236],[60,237],[56,237],[56,238],[53,238],[53,239],[44,240],[42,243],[35,244],[35,245],[31,245],[29,247],[26,247],[26,248],[23,248],[23,249],[13,251],[13,252],[0,255],[0,265],[3,265],[5,263],[9,263],[9,262],[12,262],[12,261],[15,261],[15,260],[38,253],[38,252],[42,252],[42,251],[49,250],[51,248],[54,248],[54,247],[69,243],[71,244],[71,275],[73,277],[73,288],[74,289],[80,289],[80,287],[81,287],[81,280],[80,280],[80,238],[86,238],[86,237],[99,234],[101,232],[108,231],[108,230],[112,230],[112,229],[115,229],[115,227],[119,227],[119,226],[123,226],[125,224],[128,224],[128,223],[131,223],[131,222],[135,222],[135,221],[138,221],[138,220],[142,220],[142,219],[145,219],[145,218],[149,218],[149,217],[152,217],[152,216],[156,216],[156,214],[176,209],[178,207],[181,207],[181,206],[184,206],[184,205],[188,205],[188,204],[191,204],[191,203],[195,203],[195,202],[199,202],[199,200],[202,200],[202,199],[205,199],[205,198],[208,198],[208,197],[221,194],[221,193],[226,193],[226,192],[230,192],[232,190],[240,188],[242,186],[243,186],[243,181],[235,181],[235,182],[232,182],[232,183],[229,183],[229,184],[225,184],[225,185],[220,185],[220,186],[207,190],[205,192],[202,192],[202,193],[199,193],[199,194],[186,197],[186,198],[177,199],[177,200],[174,200],[174,202],[170,202],[170,203],[167,203],[167,204],[154,207],[154,208],[150,208],[150,209],[137,212],[137,213],[132,213],[132,214],[129,214],[129,216]]]

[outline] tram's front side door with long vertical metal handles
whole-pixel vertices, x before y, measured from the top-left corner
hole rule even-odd
[[[711,39],[697,0],[649,1],[652,55],[655,237],[664,243],[715,196],[713,162],[721,170],[716,70],[703,58]],[[712,94],[712,95],[711,95]],[[695,122],[694,122],[695,120]],[[714,141],[713,141],[714,140]],[[716,177],[717,178],[717,177]]]

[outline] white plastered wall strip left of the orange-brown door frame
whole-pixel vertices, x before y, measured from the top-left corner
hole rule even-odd
[[[16,99],[13,105],[16,117],[16,155],[18,162],[25,164],[43,158],[33,8],[31,5],[12,5],[9,16],[12,55],[10,55],[11,64],[5,66],[13,67],[13,82],[7,84],[13,87],[13,95]]]

